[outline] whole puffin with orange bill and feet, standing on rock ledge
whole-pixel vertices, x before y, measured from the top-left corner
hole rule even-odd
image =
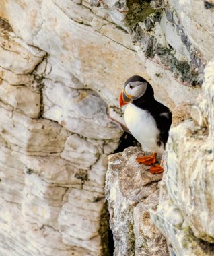
[[[157,102],[151,84],[143,77],[134,75],[127,79],[120,94],[120,108],[124,110],[124,121],[144,151],[151,156],[139,156],[139,164],[149,165],[149,172],[159,174],[164,171],[157,164],[157,153],[163,154],[172,123],[172,112]]]

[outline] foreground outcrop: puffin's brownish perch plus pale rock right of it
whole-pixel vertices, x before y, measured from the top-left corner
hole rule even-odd
[[[114,255],[214,255],[213,72],[211,60],[190,118],[184,113],[182,120],[182,108],[174,113],[163,179],[137,164],[145,154],[138,148],[110,155],[106,197]]]

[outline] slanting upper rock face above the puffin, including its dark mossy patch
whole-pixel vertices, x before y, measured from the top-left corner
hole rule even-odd
[[[196,98],[199,89],[186,84],[196,84],[196,69],[201,72],[208,55],[205,60],[203,55],[198,57],[193,47],[185,44],[190,40],[186,31],[182,35],[177,32],[180,19],[173,10],[180,11],[182,4],[170,2],[171,12],[166,14],[164,1],[152,1],[155,9],[148,2],[3,0],[0,15],[9,20],[17,36],[50,56],[47,71],[60,75],[57,81],[74,75],[113,108],[118,106],[124,81],[133,74],[141,75],[151,81],[156,98],[174,108]],[[203,9],[211,17],[211,10]],[[191,35],[198,33],[194,25]],[[199,25],[199,30],[207,29],[205,25]],[[190,61],[199,67],[190,67]]]

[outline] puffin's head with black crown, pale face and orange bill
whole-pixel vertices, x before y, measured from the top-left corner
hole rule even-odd
[[[147,87],[151,87],[150,84],[138,75],[130,77],[125,83],[124,88],[120,94],[120,107],[128,104],[133,100],[141,98],[147,91]]]

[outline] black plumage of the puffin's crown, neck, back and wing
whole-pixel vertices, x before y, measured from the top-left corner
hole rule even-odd
[[[134,81],[147,82],[140,76],[133,76],[127,80],[125,84]],[[147,110],[156,121],[157,128],[159,129],[159,137],[157,137],[157,145],[161,146],[161,143],[164,143],[164,146],[168,140],[169,130],[172,123],[172,112],[164,106],[163,104],[157,102],[154,98],[154,91],[151,87],[151,84],[147,82],[147,90],[145,94],[138,98],[137,100],[133,100],[132,102],[135,106]]]

